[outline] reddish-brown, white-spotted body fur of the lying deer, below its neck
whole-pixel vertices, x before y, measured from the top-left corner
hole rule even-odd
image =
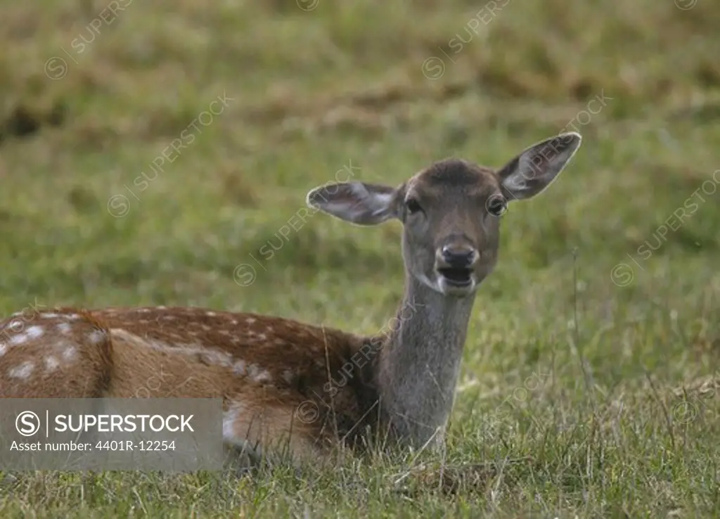
[[[225,410],[233,402],[245,410],[235,424],[239,437],[262,446],[284,435],[291,451],[313,454],[351,433],[356,417],[377,400],[372,391],[356,390],[366,372],[328,392],[330,379],[341,378],[343,364],[363,344],[331,328],[187,307],[48,310],[17,331],[12,322],[0,321],[6,342],[32,326],[42,335],[9,346],[0,358],[4,398],[222,398]],[[58,329],[63,324],[68,333]],[[102,340],[90,340],[92,333]],[[67,348],[74,348],[73,358],[63,358]],[[53,370],[44,364],[48,355],[58,361]],[[9,376],[28,359],[34,368],[27,379]],[[239,372],[238,361],[245,363]],[[303,406],[317,418],[300,415]]]

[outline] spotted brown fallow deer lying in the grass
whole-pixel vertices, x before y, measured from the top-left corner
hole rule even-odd
[[[309,191],[308,207],[351,224],[402,225],[405,291],[395,325],[377,334],[199,307],[55,307],[22,329],[17,314],[0,322],[0,397],[219,398],[222,443],[246,463],[437,448],[500,217],[544,191],[581,140],[547,138],[498,169],[445,158],[395,187]]]

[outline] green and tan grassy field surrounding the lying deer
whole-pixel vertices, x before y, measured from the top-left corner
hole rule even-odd
[[[584,140],[503,215],[442,456],[2,474],[0,515],[716,516],[718,27],[711,0],[4,2],[2,315],[194,305],[374,333],[400,224],[289,225],[307,191]]]

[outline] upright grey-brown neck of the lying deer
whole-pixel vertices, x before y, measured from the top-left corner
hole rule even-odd
[[[380,351],[377,387],[384,418],[409,443],[444,437],[473,303],[473,295],[444,296],[406,276]]]

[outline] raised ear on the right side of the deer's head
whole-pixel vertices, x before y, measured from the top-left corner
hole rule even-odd
[[[498,171],[506,198],[527,199],[540,194],[580,148],[579,133],[563,133],[532,145]]]

